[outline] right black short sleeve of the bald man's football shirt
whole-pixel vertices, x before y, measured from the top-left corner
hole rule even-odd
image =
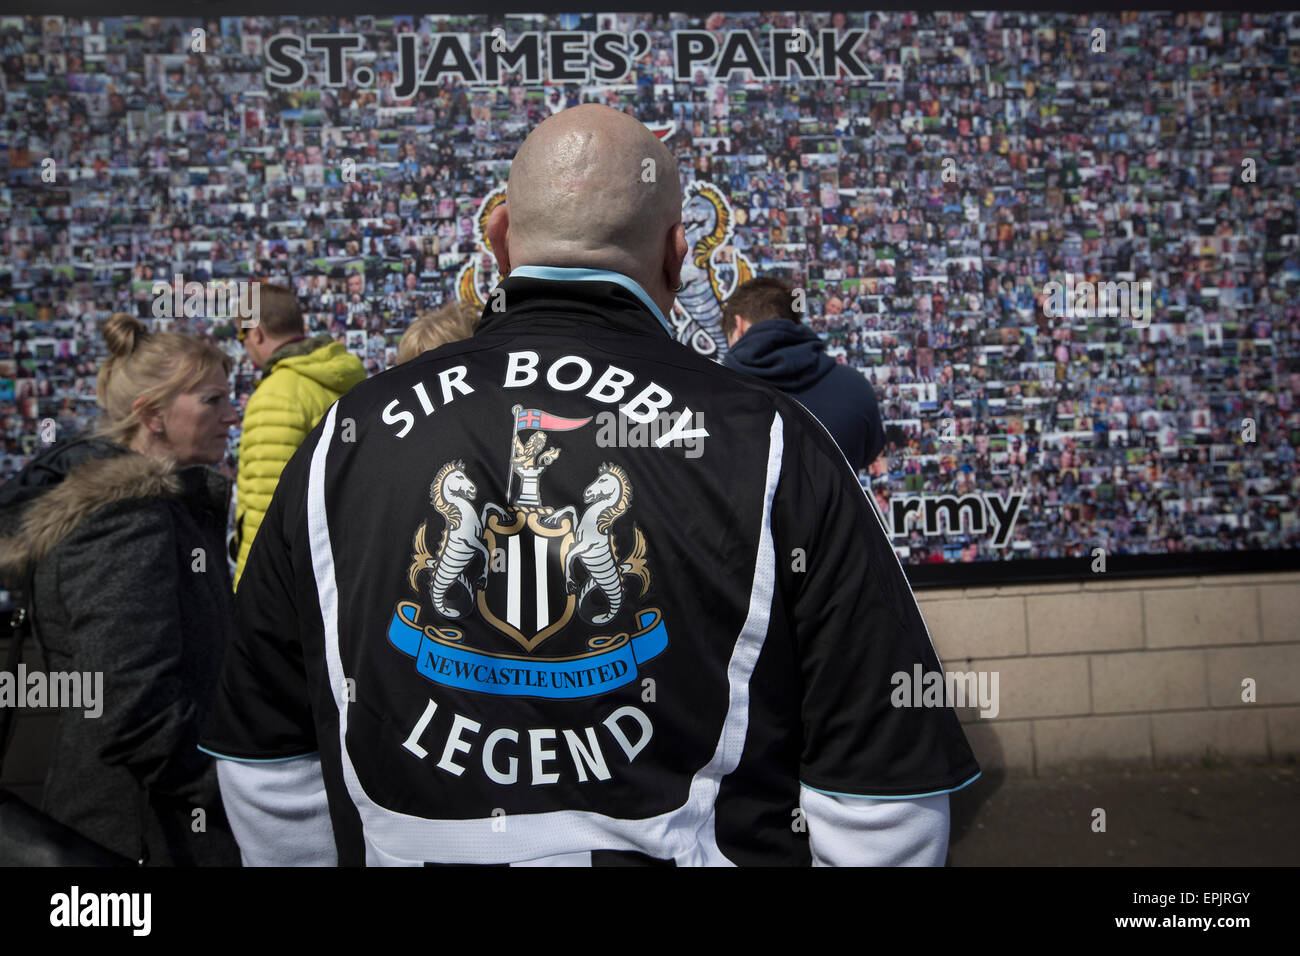
[[[802,678],[800,782],[872,799],[963,787],[979,766],[952,708],[896,693],[942,666],[875,506],[811,415],[781,418],[772,535]]]

